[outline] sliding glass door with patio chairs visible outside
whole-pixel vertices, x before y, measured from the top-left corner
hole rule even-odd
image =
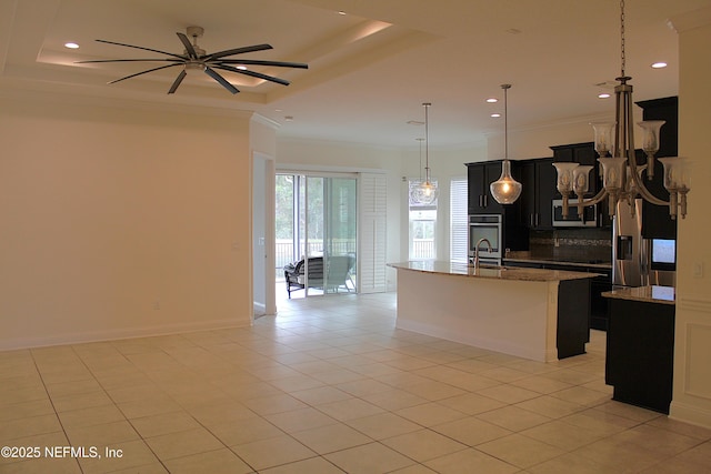
[[[357,291],[356,190],[354,175],[277,177],[277,271],[303,262],[293,296]]]

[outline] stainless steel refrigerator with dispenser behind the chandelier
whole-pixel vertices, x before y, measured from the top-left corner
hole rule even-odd
[[[642,200],[634,215],[618,203],[612,221],[612,284],[617,286],[675,285],[675,242],[642,239]]]

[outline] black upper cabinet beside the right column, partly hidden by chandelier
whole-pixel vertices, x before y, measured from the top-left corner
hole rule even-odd
[[[679,148],[679,99],[669,97],[637,102],[642,108],[644,120],[664,120],[659,131],[659,152],[657,158],[677,157]],[[669,200],[669,191],[663,184],[664,167],[654,160],[654,179],[644,185],[655,196]],[[642,203],[642,236],[644,239],[677,239],[677,221],[669,216],[669,206]]]

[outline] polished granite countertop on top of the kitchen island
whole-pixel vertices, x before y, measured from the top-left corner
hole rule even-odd
[[[410,261],[401,263],[388,263],[388,266],[398,270],[412,270],[424,273],[440,273],[447,275],[461,275],[479,279],[518,280],[531,282],[552,282],[562,280],[581,280],[598,276],[597,273],[569,272],[562,270],[541,270],[507,266],[482,265],[474,270],[467,263],[443,261]]]

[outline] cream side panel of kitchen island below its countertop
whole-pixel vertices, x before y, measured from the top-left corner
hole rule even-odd
[[[558,285],[399,270],[397,327],[557,361]]]

